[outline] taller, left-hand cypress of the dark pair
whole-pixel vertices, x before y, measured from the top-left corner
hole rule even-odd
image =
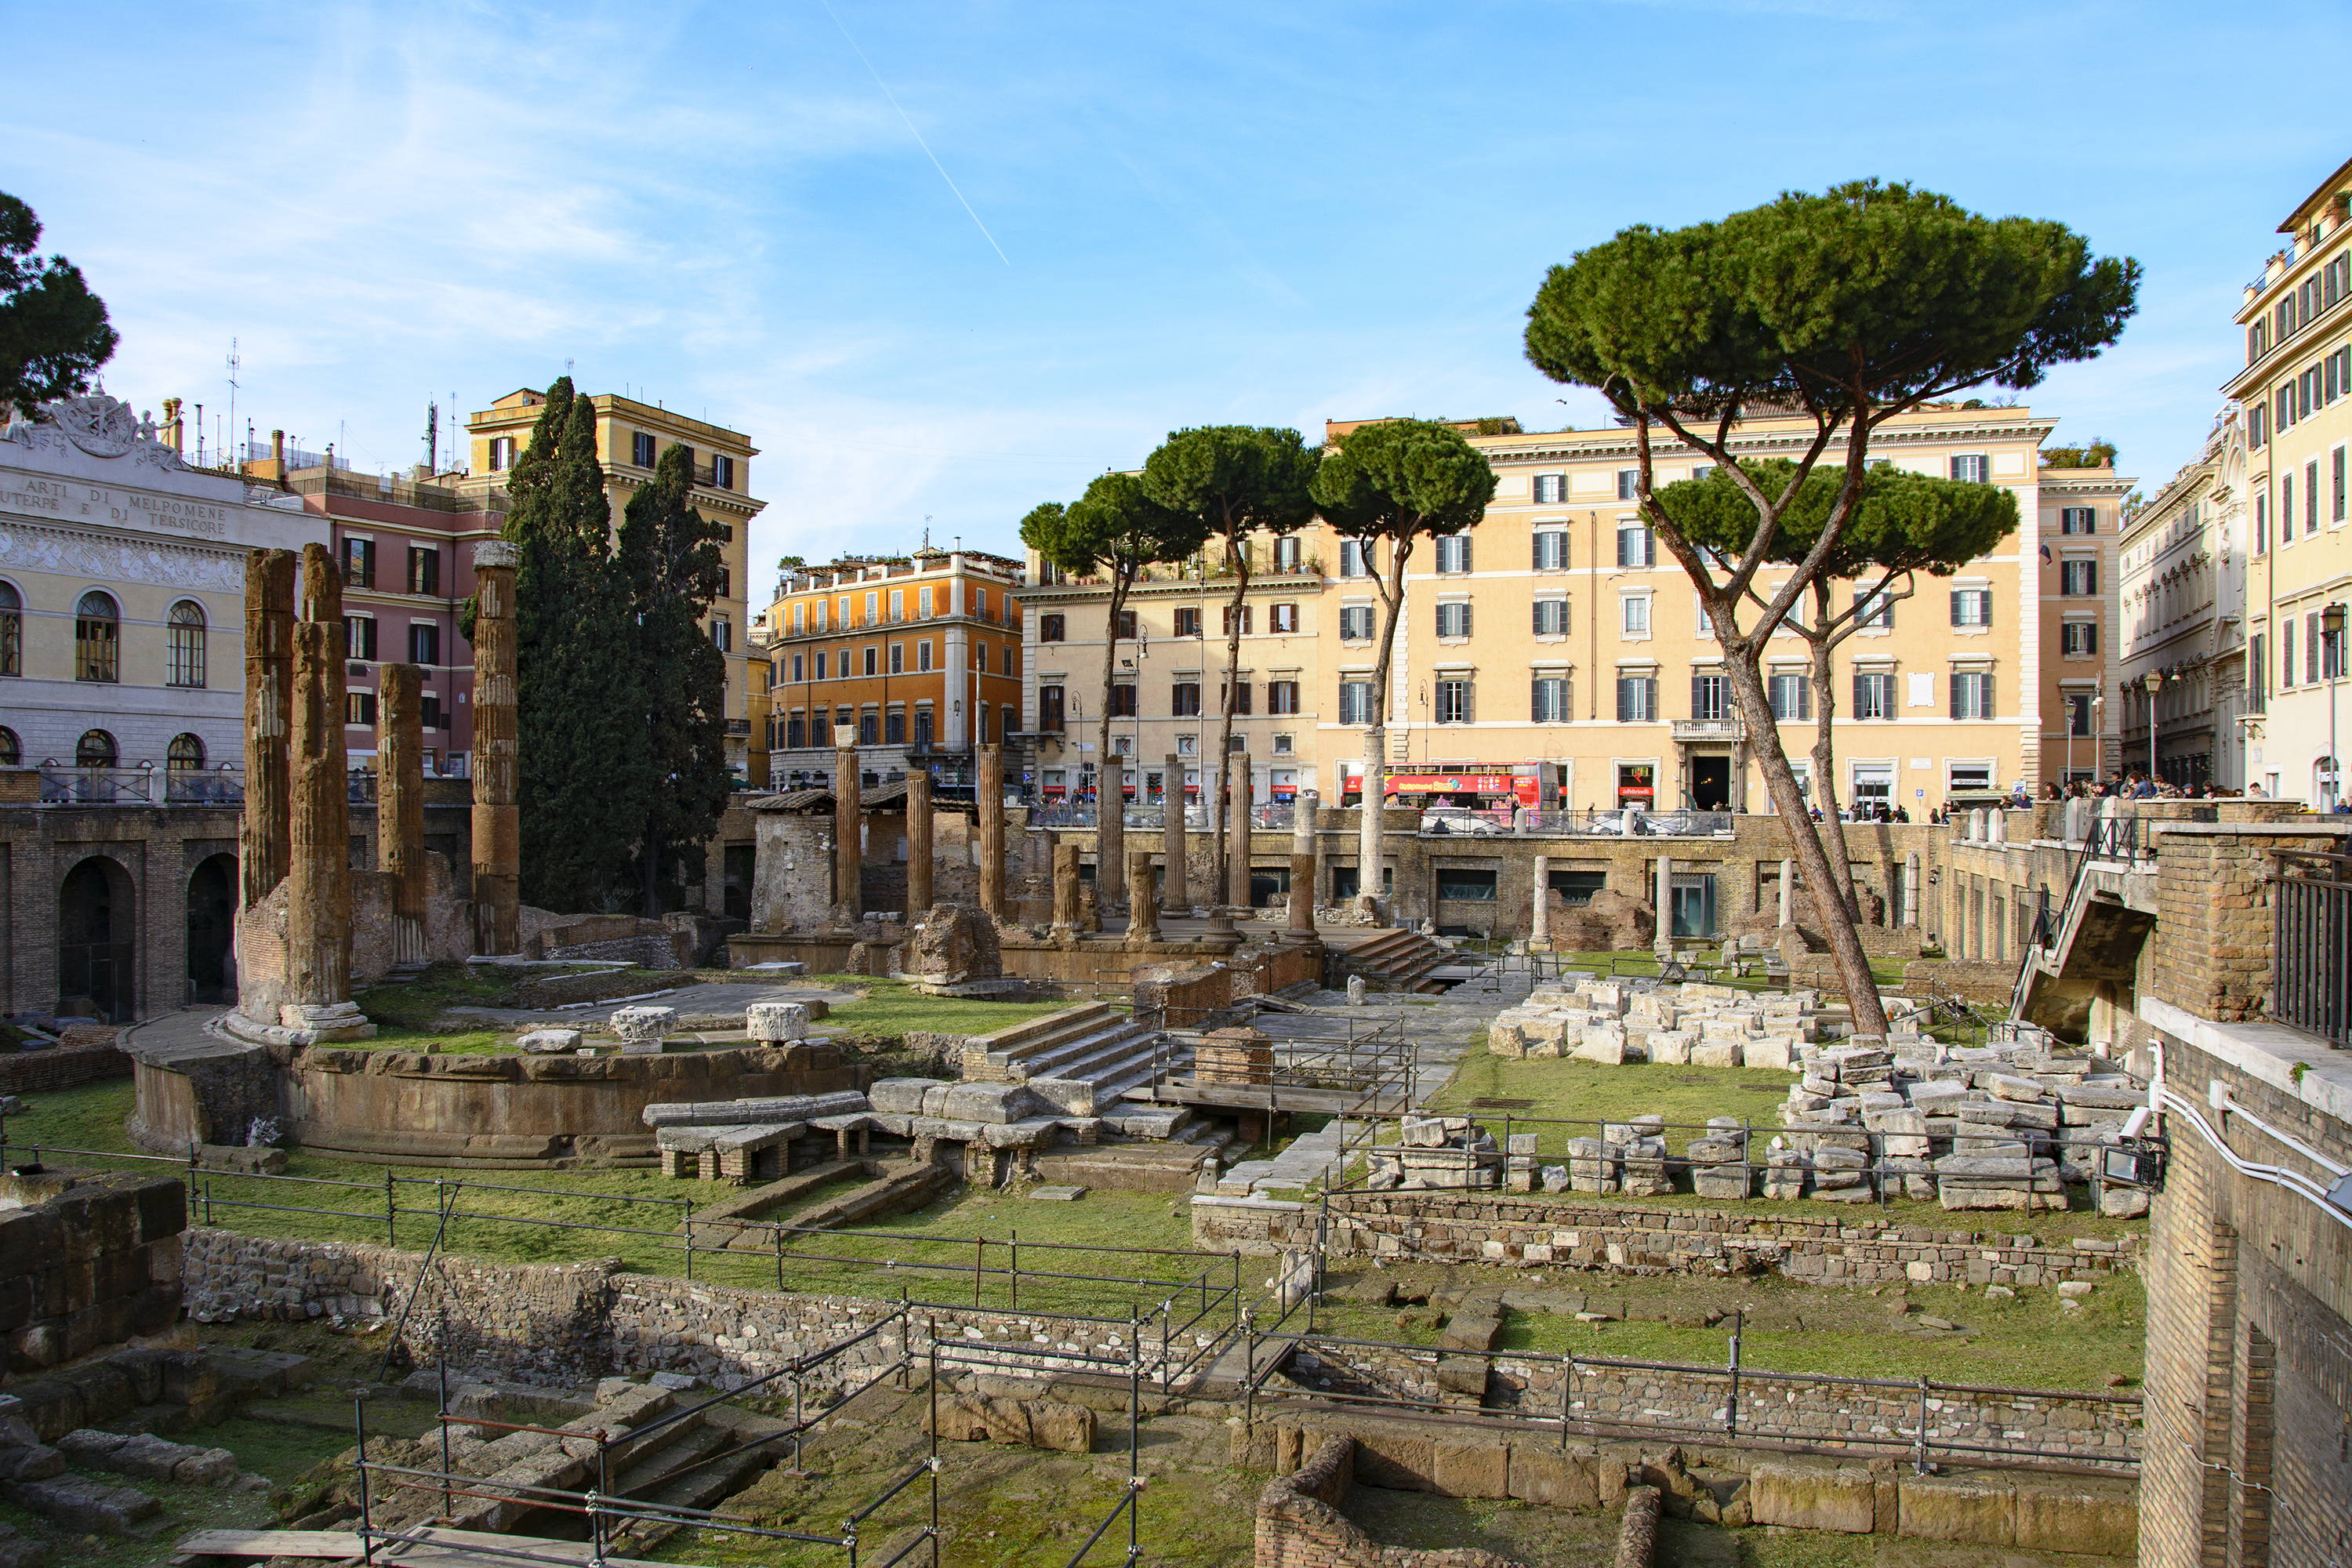
[[[522,900],[607,910],[637,844],[644,771],[637,637],[612,555],[595,404],[564,376],[508,480],[515,569],[515,731]]]

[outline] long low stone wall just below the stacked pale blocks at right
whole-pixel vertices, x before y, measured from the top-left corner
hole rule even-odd
[[[1279,1253],[1315,1246],[1322,1206],[1192,1199],[1192,1244]],[[2138,1269],[2140,1239],[2018,1246],[2013,1237],[1919,1225],[1755,1218],[1512,1194],[1348,1192],[1331,1199],[1329,1258],[1498,1262],[1616,1274],[1783,1274],[1806,1284],[2056,1286]]]

